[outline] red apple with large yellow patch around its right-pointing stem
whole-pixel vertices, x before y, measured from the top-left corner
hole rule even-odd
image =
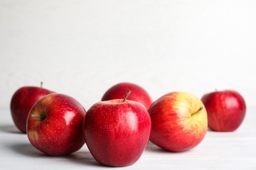
[[[207,133],[205,107],[191,93],[167,93],[154,101],[148,112],[152,120],[150,141],[165,150],[190,150],[201,143]]]

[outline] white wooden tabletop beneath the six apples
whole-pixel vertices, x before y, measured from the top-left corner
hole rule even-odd
[[[256,109],[247,109],[234,132],[207,131],[205,139],[187,152],[166,152],[148,143],[139,161],[121,169],[256,169]],[[14,127],[9,109],[0,109],[0,169],[104,169],[86,145],[66,157],[37,151]],[[117,168],[119,169],[119,168]]]

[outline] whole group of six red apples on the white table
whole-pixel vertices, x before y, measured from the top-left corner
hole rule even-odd
[[[144,88],[128,82],[112,86],[87,111],[73,97],[42,86],[24,86],[11,99],[14,124],[41,152],[63,156],[86,143],[98,163],[114,167],[139,160],[148,141],[182,152],[201,143],[208,127],[234,131],[245,109],[243,97],[232,90],[202,99],[171,92],[153,102]]]

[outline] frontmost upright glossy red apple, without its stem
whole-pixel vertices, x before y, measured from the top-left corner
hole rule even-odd
[[[121,99],[95,103],[85,116],[83,135],[98,163],[113,167],[139,160],[150,137],[151,121],[146,108]]]

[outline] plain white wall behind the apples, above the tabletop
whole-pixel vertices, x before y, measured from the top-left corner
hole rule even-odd
[[[118,82],[155,100],[234,89],[256,107],[256,1],[0,0],[0,107],[21,86],[85,109]]]

